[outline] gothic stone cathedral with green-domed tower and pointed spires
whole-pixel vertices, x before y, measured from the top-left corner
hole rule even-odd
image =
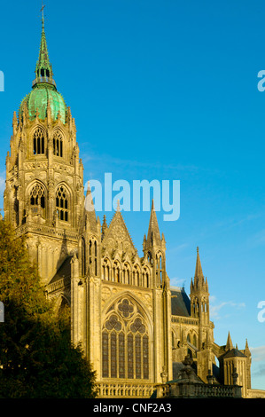
[[[12,118],[4,217],[17,236],[27,236],[58,314],[69,306],[71,338],[97,372],[98,397],[151,397],[156,386],[177,380],[185,358],[201,383],[236,384],[251,397],[247,342],[243,350],[230,334],[222,346],[214,342],[199,248],[187,295],[170,286],[153,204],[138,255],[119,206],[107,224],[86,209],[90,200],[74,117],[54,81],[42,20],[35,80]]]

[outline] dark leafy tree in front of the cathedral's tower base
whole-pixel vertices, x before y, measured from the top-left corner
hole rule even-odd
[[[95,373],[70,340],[67,309],[55,315],[27,241],[0,221],[0,397],[95,397]]]

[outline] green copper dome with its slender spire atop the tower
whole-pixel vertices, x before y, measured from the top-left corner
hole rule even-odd
[[[41,46],[39,51],[39,59],[37,60],[35,67],[35,80],[33,82],[32,90],[22,100],[19,106],[19,115],[23,116],[25,106],[27,106],[27,112],[30,120],[34,120],[36,112],[40,119],[47,117],[48,105],[51,108],[51,117],[53,120],[60,115],[61,122],[66,122],[66,103],[64,98],[58,92],[56,83],[53,80],[53,73],[51,62],[48,55],[48,48],[46,43],[46,35],[43,30],[41,38]]]

